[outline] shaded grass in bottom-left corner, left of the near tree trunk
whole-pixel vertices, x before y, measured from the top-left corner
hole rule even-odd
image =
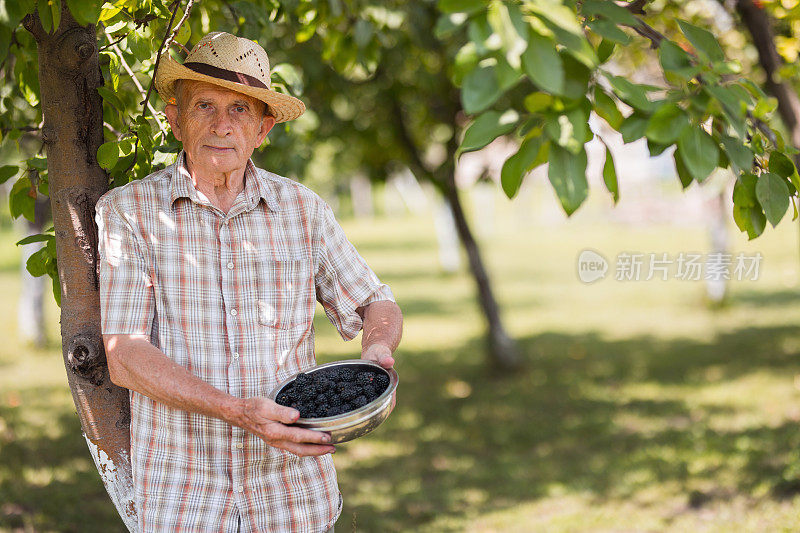
[[[30,410],[0,404],[0,530],[126,531],[92,463],[77,415],[46,406],[61,392],[21,391],[21,404],[40,402],[36,410],[44,409],[43,420],[35,422]]]

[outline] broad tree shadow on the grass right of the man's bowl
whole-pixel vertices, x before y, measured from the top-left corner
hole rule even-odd
[[[366,438],[377,452],[362,458],[353,443],[337,454],[349,463],[340,471],[339,526],[413,531],[438,520],[438,531],[448,517],[564,490],[624,499],[655,483],[680,487],[687,506],[697,506],[718,497],[721,478],[743,494],[767,486],[791,496],[800,491],[796,424],[715,430],[712,418],[735,413],[660,396],[628,401],[614,391],[722,384],[765,369],[791,379],[800,361],[783,347],[798,340],[790,327],[739,330],[713,345],[547,333],[523,339],[527,369],[500,379],[486,377],[480,342],[456,350],[455,364],[442,362],[448,354],[407,354],[397,408]],[[381,456],[382,448],[395,451]],[[366,503],[348,504],[354,495]]]

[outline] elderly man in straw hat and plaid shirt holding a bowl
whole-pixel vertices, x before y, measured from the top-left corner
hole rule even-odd
[[[318,300],[361,357],[384,367],[402,316],[306,187],[250,160],[304,111],[270,90],[258,44],[209,34],[156,88],[176,163],[97,204],[103,338],[131,390],[142,531],[332,530],[341,496],[330,437],[266,398],[315,364]]]

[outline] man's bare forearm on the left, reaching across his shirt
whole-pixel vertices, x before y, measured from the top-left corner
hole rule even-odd
[[[242,405],[198,378],[144,336],[103,335],[111,380],[157,402],[240,425]]]

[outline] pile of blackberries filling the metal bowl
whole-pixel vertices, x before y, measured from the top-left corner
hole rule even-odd
[[[377,368],[333,366],[297,374],[275,401],[300,411],[300,418],[322,418],[363,407],[388,386],[389,376]]]

